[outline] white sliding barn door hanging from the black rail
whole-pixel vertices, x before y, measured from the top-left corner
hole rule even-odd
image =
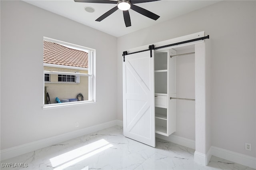
[[[125,55],[124,136],[155,147],[154,50]]]

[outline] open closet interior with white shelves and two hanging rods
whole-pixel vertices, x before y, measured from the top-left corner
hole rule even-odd
[[[155,132],[158,134],[194,138],[194,57],[194,45],[154,51]]]

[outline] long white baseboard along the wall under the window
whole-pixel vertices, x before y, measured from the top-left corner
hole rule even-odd
[[[19,156],[19,155],[22,155],[22,154],[25,154],[25,153],[28,153],[28,152],[32,152],[34,150],[38,150],[40,148],[44,148],[44,147],[47,147],[47,146],[50,146],[50,145],[53,145],[53,144],[58,144],[60,142],[66,141],[66,140],[77,138],[79,136],[90,134],[90,133],[96,132],[98,130],[113,127],[113,126],[116,126],[116,125],[120,126],[120,125],[122,125],[122,123],[120,123],[119,120],[114,120],[114,121],[102,123],[102,124],[99,124],[99,125],[95,125],[95,126],[92,126],[92,127],[87,127],[87,128],[75,130],[73,132],[60,134],[58,136],[53,136],[53,137],[50,137],[50,138],[38,140],[38,141],[35,141],[35,142],[22,144],[20,146],[15,146],[15,147],[12,147],[12,148],[3,149],[0,152],[0,154],[1,154],[0,157],[1,157],[1,160],[6,160],[6,159],[9,159],[9,158],[13,158],[15,156]]]

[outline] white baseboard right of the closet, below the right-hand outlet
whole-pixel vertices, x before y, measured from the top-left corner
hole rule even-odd
[[[238,164],[249,166],[250,168],[256,169],[256,157],[240,154],[230,150],[211,146],[211,154],[222,159],[230,160]]]

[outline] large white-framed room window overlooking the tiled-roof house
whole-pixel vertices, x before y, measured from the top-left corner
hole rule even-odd
[[[44,107],[95,101],[95,50],[45,37],[43,44]]]

